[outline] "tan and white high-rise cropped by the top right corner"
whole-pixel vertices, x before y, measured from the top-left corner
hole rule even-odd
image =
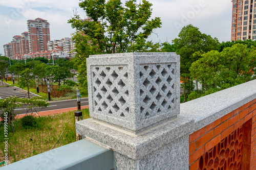
[[[256,39],[256,1],[232,0],[231,40]]]

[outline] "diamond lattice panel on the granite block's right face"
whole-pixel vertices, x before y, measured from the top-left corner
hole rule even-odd
[[[175,109],[175,63],[140,65],[140,112],[144,118]]]

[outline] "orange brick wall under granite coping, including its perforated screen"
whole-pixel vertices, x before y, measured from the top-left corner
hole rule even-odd
[[[256,169],[256,100],[189,135],[189,169]]]

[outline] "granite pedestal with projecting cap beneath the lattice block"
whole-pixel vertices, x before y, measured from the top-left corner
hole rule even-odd
[[[177,118],[133,134],[93,118],[76,123],[76,132],[115,152],[115,169],[188,169],[188,134],[194,120]]]

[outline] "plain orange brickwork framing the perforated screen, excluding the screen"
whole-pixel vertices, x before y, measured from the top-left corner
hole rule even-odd
[[[243,169],[256,169],[256,99],[189,135],[189,169],[199,168],[200,157],[243,128]]]

